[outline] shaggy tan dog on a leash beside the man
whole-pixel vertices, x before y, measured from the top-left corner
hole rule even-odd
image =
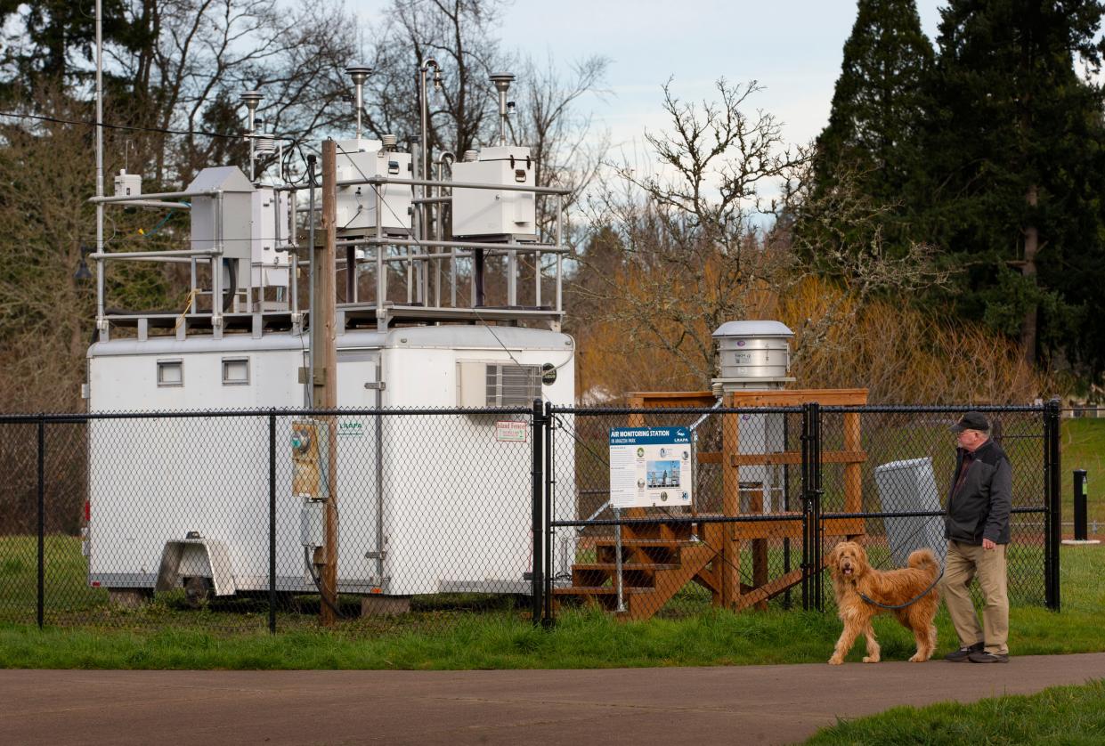
[[[936,650],[936,626],[933,618],[940,599],[933,587],[939,575],[940,565],[932,549],[917,549],[909,555],[909,567],[899,570],[877,570],[867,564],[867,553],[855,542],[841,542],[829,555],[836,608],[844,631],[836,641],[829,663],[840,665],[852,649],[855,639],[863,634],[867,639],[867,655],[864,663],[878,662],[878,643],[871,620],[877,613],[893,613],[903,627],[917,639],[917,652],[909,659],[913,663],[927,661]],[[897,606],[920,598],[903,609],[882,609],[860,598],[863,593],[873,601],[885,606]]]

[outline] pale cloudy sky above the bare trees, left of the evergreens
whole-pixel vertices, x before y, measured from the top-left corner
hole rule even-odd
[[[347,1],[366,25],[388,4]],[[943,4],[917,0],[930,41]],[[855,0],[516,0],[502,38],[562,65],[591,54],[610,57],[611,95],[580,107],[625,151],[640,151],[645,127],[665,125],[661,86],[669,77],[680,98],[695,101],[715,98],[719,76],[756,80],[765,91],[751,105],[775,114],[788,141],[804,143],[828,122],[855,11]]]

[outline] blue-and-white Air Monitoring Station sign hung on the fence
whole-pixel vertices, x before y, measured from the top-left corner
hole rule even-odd
[[[691,431],[610,429],[610,504],[667,507],[691,504]]]

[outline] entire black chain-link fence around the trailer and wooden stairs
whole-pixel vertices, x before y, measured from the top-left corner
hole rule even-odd
[[[943,555],[961,409],[0,417],[0,622],[276,631],[329,612],[371,633],[825,609],[841,538],[880,568]],[[982,409],[1013,465],[1010,597],[1057,608],[1057,410]],[[624,428],[685,440],[627,483]],[[617,498],[633,492],[652,498]]]

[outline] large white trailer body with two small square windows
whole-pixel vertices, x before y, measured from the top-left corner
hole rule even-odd
[[[573,397],[573,353],[570,337],[539,329],[348,332],[338,337],[338,406],[514,406],[512,393],[518,397],[509,383],[534,375],[539,396],[564,406]],[[285,409],[303,402],[304,350],[296,336],[117,339],[93,345],[88,358],[92,412]],[[543,385],[541,366],[549,363],[557,367],[556,380]],[[339,418],[339,591],[527,591],[530,445],[502,440],[499,419]],[[302,542],[305,502],[292,491],[291,432],[292,420],[281,418],[276,587],[311,592]],[[88,449],[93,586],[151,591],[194,578],[219,596],[267,590],[265,418],[93,420]],[[560,469],[573,473],[570,464]],[[561,483],[560,490],[570,486]]]

